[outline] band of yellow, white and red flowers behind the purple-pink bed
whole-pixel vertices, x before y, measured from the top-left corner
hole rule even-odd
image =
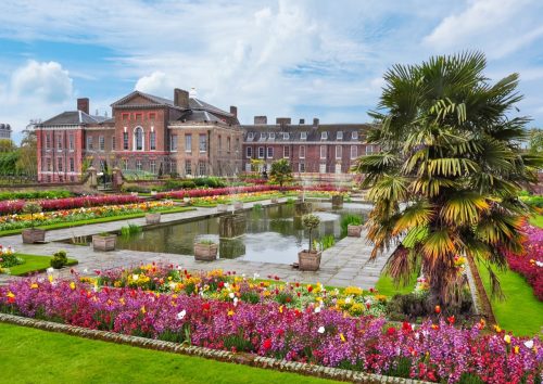
[[[198,294],[204,298],[238,303],[279,303],[287,308],[319,311],[334,308],[345,316],[372,315],[384,312],[387,297],[375,290],[364,291],[356,286],[327,291],[323,284],[283,283],[278,277],[270,281],[260,281],[237,276],[235,272],[213,270],[192,273],[173,265],[147,265],[135,269],[111,269],[97,271],[96,278],[81,278],[92,285],[132,287],[159,293],[184,295]]]

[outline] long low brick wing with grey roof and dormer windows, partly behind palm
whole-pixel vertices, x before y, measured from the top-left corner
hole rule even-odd
[[[377,145],[365,144],[367,124],[311,124],[278,117],[268,124],[266,116],[255,116],[253,125],[243,125],[243,168],[251,170],[251,159],[261,159],[269,170],[272,163],[287,158],[294,172],[346,174],[358,156],[371,154]]]

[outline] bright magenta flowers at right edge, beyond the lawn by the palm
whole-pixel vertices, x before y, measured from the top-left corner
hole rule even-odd
[[[509,268],[525,277],[534,295],[543,302],[543,229],[526,226],[525,253],[507,253]]]

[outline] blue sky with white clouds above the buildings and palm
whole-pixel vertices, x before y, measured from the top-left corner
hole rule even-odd
[[[2,0],[0,123],[111,115],[135,89],[224,110],[366,123],[394,64],[482,51],[487,76],[520,74],[520,115],[543,127],[541,0]]]

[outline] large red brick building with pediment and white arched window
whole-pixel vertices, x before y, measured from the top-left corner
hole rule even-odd
[[[237,108],[219,110],[187,91],[174,100],[134,91],[112,105],[112,117],[89,114],[89,100],[36,126],[38,179],[77,180],[99,171],[230,176],[241,170]]]

